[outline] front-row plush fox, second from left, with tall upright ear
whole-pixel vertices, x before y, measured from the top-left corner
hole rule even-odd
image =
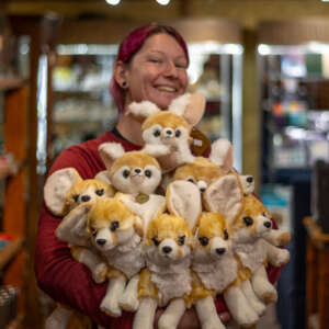
[[[143,242],[147,269],[140,275],[134,329],[154,328],[157,306],[167,306],[158,327],[174,329],[186,309],[184,296],[191,292],[192,280],[192,227],[201,214],[201,196],[194,184],[175,181],[168,186],[167,197],[170,213],[162,213],[149,223]],[[193,219],[189,218],[190,206],[198,207]]]

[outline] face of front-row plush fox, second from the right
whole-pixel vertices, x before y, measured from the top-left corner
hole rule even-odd
[[[193,254],[197,260],[217,259],[230,250],[224,217],[219,213],[202,213]]]

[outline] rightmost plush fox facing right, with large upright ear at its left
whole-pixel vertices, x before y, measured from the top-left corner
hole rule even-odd
[[[272,222],[264,205],[252,194],[245,195],[242,188],[237,190],[235,197],[227,200],[232,184],[238,181],[231,175],[231,183],[219,179],[212,183],[204,193],[205,206],[209,212],[225,214],[228,232],[232,240],[234,252],[241,264],[240,272],[245,272],[243,282],[248,279],[257,296],[265,303],[276,300],[275,287],[269,282],[265,263],[269,261],[274,265],[282,265],[290,259],[285,249],[280,249],[269,243],[263,237],[271,234]],[[249,283],[248,283],[249,285]],[[230,291],[224,293],[225,300],[230,309],[237,307],[236,296]],[[240,307],[239,307],[240,308]],[[241,324],[241,318],[238,322]]]

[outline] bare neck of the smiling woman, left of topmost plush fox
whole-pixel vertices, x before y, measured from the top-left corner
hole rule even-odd
[[[134,118],[131,114],[121,115],[116,124],[118,133],[127,140],[136,145],[143,145],[141,123]]]

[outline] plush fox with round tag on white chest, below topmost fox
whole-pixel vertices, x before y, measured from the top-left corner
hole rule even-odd
[[[166,208],[166,197],[155,194],[161,181],[158,161],[144,151],[125,152],[117,143],[104,143],[99,151],[106,174],[118,191],[116,196],[143,219],[146,231],[148,223]]]

